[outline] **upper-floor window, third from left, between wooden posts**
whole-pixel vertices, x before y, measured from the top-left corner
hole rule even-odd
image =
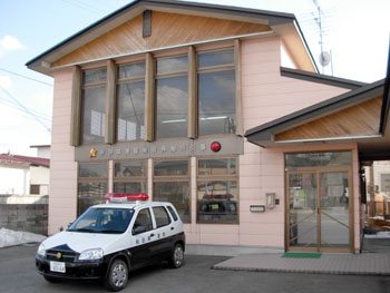
[[[188,113],[188,57],[156,60],[156,137],[186,137]]]

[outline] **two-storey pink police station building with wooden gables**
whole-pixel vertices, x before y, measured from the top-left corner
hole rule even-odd
[[[293,14],[138,0],[27,66],[55,78],[49,234],[147,193],[203,253],[360,250],[389,81],[319,75]]]

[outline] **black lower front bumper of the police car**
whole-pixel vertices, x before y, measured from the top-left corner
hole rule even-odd
[[[36,256],[36,267],[43,276],[69,280],[96,280],[105,276],[107,262],[104,260],[65,262],[65,273],[59,273],[50,271],[50,260]]]

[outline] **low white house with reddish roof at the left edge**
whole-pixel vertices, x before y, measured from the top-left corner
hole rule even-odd
[[[48,195],[50,159],[0,154],[1,195]]]

